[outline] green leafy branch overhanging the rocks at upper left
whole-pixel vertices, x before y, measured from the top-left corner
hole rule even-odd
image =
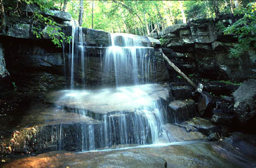
[[[7,0],[8,1],[8,0]],[[13,1],[13,0],[12,0]],[[63,1],[63,0],[62,0]],[[37,38],[42,38],[43,35],[48,35],[56,47],[62,47],[62,43],[70,41],[71,37],[67,37],[63,32],[61,32],[61,27],[52,19],[53,15],[50,9],[55,8],[56,0],[16,0],[16,4],[8,2],[10,6],[7,8],[7,12],[12,13],[12,15],[20,16],[24,15],[22,6],[27,6],[27,10],[30,10],[32,15],[29,16],[30,24],[32,24],[31,31]],[[14,5],[14,6],[13,6]],[[33,8],[36,6],[37,8]]]

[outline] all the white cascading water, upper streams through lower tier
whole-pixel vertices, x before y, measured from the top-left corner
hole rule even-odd
[[[116,86],[74,90],[75,81],[85,84],[88,59],[83,29],[73,26],[72,37],[69,47],[71,90],[58,92],[55,104],[67,112],[78,114],[80,119],[72,126],[61,125],[58,129],[54,126],[52,129],[56,131],[56,137],[52,138],[52,144],[56,144],[59,150],[67,149],[67,134],[74,135],[70,141],[75,151],[156,142],[166,119],[166,111],[156,92],[163,93],[165,98],[168,94],[157,84],[140,85],[154,78],[154,73],[150,73],[154,72],[154,62],[151,61],[154,48],[142,47],[132,35],[111,34],[112,46],[106,48],[102,59],[102,81],[111,83],[109,80],[114,78]]]

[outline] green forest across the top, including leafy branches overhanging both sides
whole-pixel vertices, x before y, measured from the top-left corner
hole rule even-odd
[[[223,1],[83,1],[83,0],[0,0],[0,31],[5,29],[5,13],[19,16],[20,6],[37,4],[40,10],[58,9],[69,12],[79,26],[111,33],[138,35],[159,34],[165,27],[187,23],[201,18],[218,18],[222,15],[238,15],[241,19],[229,27],[222,27],[225,34],[234,34],[240,44],[234,47],[232,56],[244,49],[255,47],[255,0]],[[54,44],[69,41],[60,27],[49,16],[33,12],[33,34],[43,35],[46,30]]]

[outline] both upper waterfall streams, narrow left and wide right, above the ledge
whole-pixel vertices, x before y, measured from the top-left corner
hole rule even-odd
[[[68,68],[66,74],[70,80],[70,88],[84,88],[87,83],[87,74],[91,72],[91,60],[87,55],[87,44],[82,27],[72,27],[72,40],[69,45]],[[138,35],[125,33],[109,33],[111,46],[100,51],[101,84],[133,85],[151,83],[155,78],[155,61],[152,59],[154,48],[143,43]],[[146,45],[146,46],[145,46]],[[90,47],[89,47],[90,48]]]

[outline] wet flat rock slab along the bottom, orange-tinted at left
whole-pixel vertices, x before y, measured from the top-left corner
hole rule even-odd
[[[225,146],[225,145],[224,145]],[[239,158],[239,159],[237,159]],[[255,167],[255,160],[247,158],[232,146],[200,142],[134,148],[117,151],[73,153],[48,152],[35,157],[6,160],[9,167]]]

